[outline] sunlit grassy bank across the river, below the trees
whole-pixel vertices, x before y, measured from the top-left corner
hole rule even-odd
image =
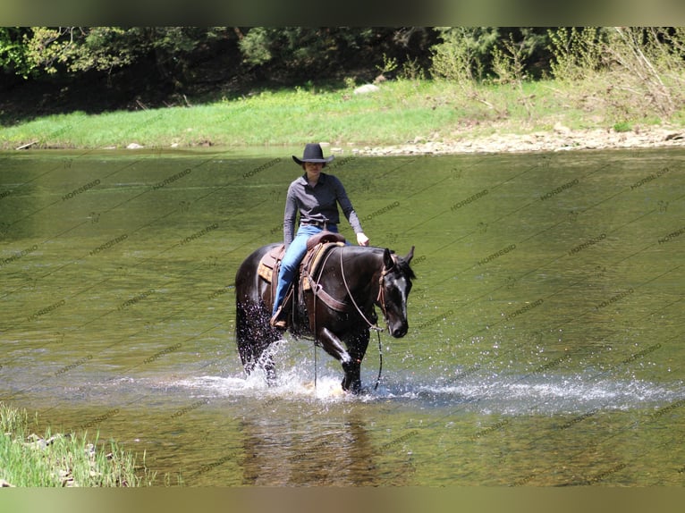
[[[88,115],[80,112],[0,127],[0,148],[266,147],[326,141],[339,147],[396,145],[419,139],[478,139],[493,133],[641,130],[685,124],[681,93],[660,112],[639,91],[609,88],[616,78],[458,84],[385,81],[378,91],[315,86],[262,91],[161,109]]]

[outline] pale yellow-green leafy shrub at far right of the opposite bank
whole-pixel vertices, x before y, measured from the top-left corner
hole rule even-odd
[[[614,122],[670,117],[685,102],[685,30],[672,27],[550,30],[556,80],[571,100]]]

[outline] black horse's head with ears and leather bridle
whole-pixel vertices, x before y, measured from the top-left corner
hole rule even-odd
[[[407,297],[411,290],[411,280],[416,278],[410,267],[413,256],[413,246],[407,256],[397,256],[387,248],[383,255],[378,302],[385,315],[388,331],[396,339],[406,335],[409,330]]]

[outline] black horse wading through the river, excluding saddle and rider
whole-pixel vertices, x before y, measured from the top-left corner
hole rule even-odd
[[[270,384],[275,381],[275,366],[266,349],[283,337],[269,325],[272,290],[270,283],[258,275],[258,265],[261,257],[277,246],[257,249],[235,276],[236,341],[242,365],[248,374],[261,366]],[[369,328],[376,324],[375,305],[383,312],[393,337],[407,334],[407,297],[415,278],[410,268],[413,255],[413,247],[402,257],[387,248],[335,246],[311,277],[312,290],[317,294],[309,290],[292,301],[289,332],[295,337],[313,337],[317,345],[340,361],[345,373],[344,391],[357,393],[361,388],[359,368],[367,351]]]

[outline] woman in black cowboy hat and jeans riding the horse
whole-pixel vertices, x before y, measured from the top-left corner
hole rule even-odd
[[[345,215],[352,230],[357,234],[359,246],[368,246],[368,237],[361,229],[359,217],[354,212],[341,181],[332,174],[321,172],[333,159],[333,156],[324,158],[324,152],[318,144],[306,145],[302,158],[292,156],[292,160],[302,166],[304,174],[292,181],[285,198],[283,241],[286,250],[278,272],[278,286],[271,317],[271,325],[275,328],[283,330],[286,327],[285,315],[282,311],[283,299],[302,258],[307,253],[307,240],[320,231],[338,231],[337,225],[340,221],[338,205],[342,208],[342,214]],[[293,236],[298,213],[300,213],[300,227]]]

